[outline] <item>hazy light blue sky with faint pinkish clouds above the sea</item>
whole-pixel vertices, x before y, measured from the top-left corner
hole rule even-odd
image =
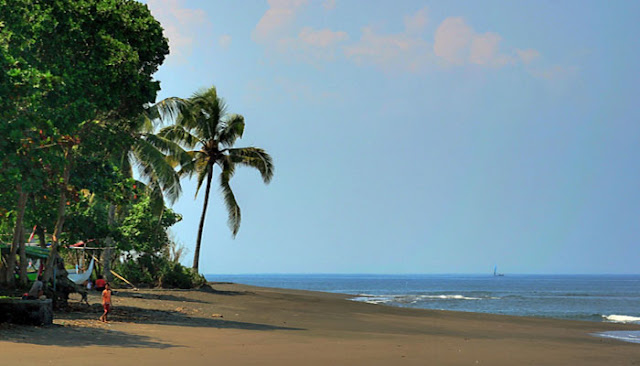
[[[146,3],[159,99],[216,86],[274,159],[235,239],[212,191],[201,273],[640,273],[640,2]]]

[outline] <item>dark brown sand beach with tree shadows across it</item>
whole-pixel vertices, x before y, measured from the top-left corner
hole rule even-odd
[[[637,325],[392,308],[340,294],[211,284],[116,289],[99,322],[74,311],[50,327],[3,325],[3,365],[637,365],[640,344],[590,335]]]

